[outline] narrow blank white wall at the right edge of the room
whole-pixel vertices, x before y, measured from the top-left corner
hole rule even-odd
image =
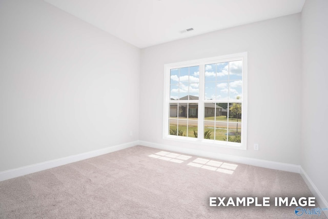
[[[301,166],[328,201],[328,1],[307,0],[302,10]],[[327,206],[322,206],[327,207]]]

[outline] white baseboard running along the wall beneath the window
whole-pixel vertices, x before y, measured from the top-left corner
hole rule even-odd
[[[217,160],[253,165],[253,166],[257,166],[257,167],[264,167],[264,168],[282,170],[282,171],[288,171],[288,172],[294,172],[294,173],[300,172],[300,166],[294,165],[294,164],[285,164],[285,163],[279,163],[279,162],[259,160],[259,159],[255,159],[255,158],[212,153],[212,152],[207,152],[207,151],[202,151],[202,150],[162,145],[162,144],[145,142],[145,141],[139,141],[139,145],[143,145],[143,146],[147,146],[147,147],[151,147],[151,148],[158,148],[158,149],[162,149],[162,150],[170,150],[170,151],[175,151],[175,152],[179,152],[179,153],[192,154],[192,155],[196,155],[196,156],[210,157],[210,158],[214,158]]]

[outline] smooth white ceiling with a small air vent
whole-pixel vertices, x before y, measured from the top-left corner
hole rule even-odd
[[[301,12],[305,0],[44,0],[139,48]],[[193,28],[192,31],[186,29]]]

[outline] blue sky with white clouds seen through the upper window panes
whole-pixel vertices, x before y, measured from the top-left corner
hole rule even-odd
[[[242,61],[205,65],[205,99],[242,98]],[[199,66],[171,69],[170,98],[199,96]]]

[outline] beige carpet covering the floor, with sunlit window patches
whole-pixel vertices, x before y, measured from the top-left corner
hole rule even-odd
[[[300,174],[161,151],[136,146],[0,182],[0,218],[326,218],[210,207],[210,196],[312,194]]]

